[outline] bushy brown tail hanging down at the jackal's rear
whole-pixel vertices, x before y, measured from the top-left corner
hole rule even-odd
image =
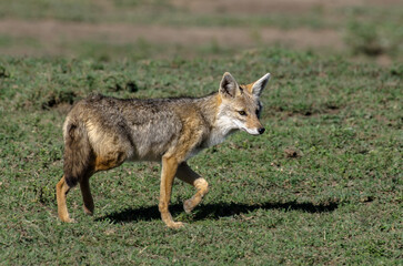
[[[82,123],[69,121],[64,129],[64,181],[73,187],[91,171],[92,150]]]

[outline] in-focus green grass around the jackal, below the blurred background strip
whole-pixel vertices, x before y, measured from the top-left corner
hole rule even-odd
[[[58,221],[61,126],[73,101],[198,96],[225,71],[240,82],[272,73],[266,133],[238,133],[190,160],[211,191],[187,215],[194,191],[175,181],[171,209],[183,229],[160,221],[153,163],[94,175],[95,215],[83,214],[75,188],[68,205],[78,223]],[[210,60],[2,57],[0,264],[401,265],[402,73],[397,63],[282,49]]]

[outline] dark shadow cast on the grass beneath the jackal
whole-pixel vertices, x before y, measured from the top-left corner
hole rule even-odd
[[[216,203],[202,204],[193,211],[193,221],[201,219],[219,219],[239,214],[246,214],[255,209],[284,209],[285,212],[302,211],[306,213],[329,213],[339,207],[337,203],[314,205],[312,203],[263,203],[263,204],[239,204],[239,203]],[[173,216],[184,212],[182,204],[170,205],[170,211]],[[132,221],[151,221],[160,219],[158,206],[127,208],[121,212],[108,214],[99,217],[95,221],[110,219],[112,223],[127,223]]]

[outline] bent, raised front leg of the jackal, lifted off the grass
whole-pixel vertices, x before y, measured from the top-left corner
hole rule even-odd
[[[198,190],[198,192],[190,200],[183,203],[184,212],[189,214],[195,206],[198,206],[203,196],[209,192],[209,183],[198,173],[191,170],[185,162],[179,165],[177,176],[181,181],[191,184]]]

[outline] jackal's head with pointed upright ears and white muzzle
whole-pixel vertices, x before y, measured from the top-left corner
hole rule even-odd
[[[259,100],[264,86],[268,84],[270,73],[256,82],[239,85],[230,73],[224,73],[220,83],[219,93],[222,103],[218,117],[229,132],[233,130],[245,131],[251,135],[263,134],[264,127],[259,121],[262,104]]]

